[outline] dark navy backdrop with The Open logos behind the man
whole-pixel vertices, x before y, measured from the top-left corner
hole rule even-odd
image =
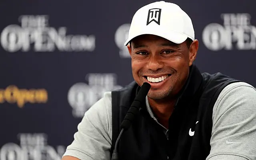
[[[60,160],[92,104],[133,80],[123,44],[150,2],[1,0],[0,160]],[[192,18],[200,70],[256,86],[256,2],[172,2]]]

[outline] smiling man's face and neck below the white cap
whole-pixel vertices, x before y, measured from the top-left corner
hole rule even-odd
[[[189,67],[196,57],[198,41],[181,44],[156,35],[139,35],[128,46],[132,58],[132,74],[139,86],[151,85],[148,101],[158,121],[168,128],[178,93],[185,85]]]

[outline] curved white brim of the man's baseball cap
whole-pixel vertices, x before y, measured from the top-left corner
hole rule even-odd
[[[128,37],[128,39],[125,41],[124,45],[127,46],[129,44],[129,42],[134,39],[135,37],[138,37],[140,35],[146,35],[146,34],[150,34],[150,35],[157,35],[159,37],[165,38],[173,43],[176,44],[180,44],[184,41],[186,41],[186,39],[188,38],[187,35],[182,34],[182,33],[178,33],[175,31],[168,31],[168,32],[163,32],[161,31],[161,33],[159,33],[159,31],[140,31],[137,34],[133,34],[132,36]]]

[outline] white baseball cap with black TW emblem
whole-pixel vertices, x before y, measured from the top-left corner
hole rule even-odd
[[[187,38],[194,41],[194,28],[188,14],[177,4],[154,2],[140,8],[133,16],[128,39],[124,45],[135,37],[151,34],[180,44]]]

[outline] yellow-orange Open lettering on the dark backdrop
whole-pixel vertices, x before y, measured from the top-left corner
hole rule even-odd
[[[48,93],[45,89],[19,89],[11,85],[6,89],[0,88],[0,103],[17,103],[18,107],[24,107],[25,103],[46,103]]]

